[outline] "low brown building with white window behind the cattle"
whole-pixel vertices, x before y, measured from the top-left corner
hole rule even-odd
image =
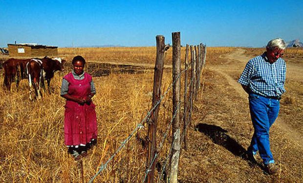
[[[7,44],[10,57],[57,56],[58,46],[45,46],[36,43]]]

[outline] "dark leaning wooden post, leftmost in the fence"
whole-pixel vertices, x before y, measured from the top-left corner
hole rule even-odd
[[[153,76],[153,93],[152,93],[152,107],[159,102],[161,97],[161,82],[162,82],[162,74],[163,74],[163,66],[165,59],[165,52],[168,49],[165,46],[164,42],[165,38],[161,35],[156,36],[157,42],[157,56],[156,63],[154,67],[154,76]],[[147,155],[147,168],[150,167],[152,163],[155,153],[156,153],[156,133],[157,133],[157,120],[158,120],[158,105],[153,111],[151,111],[150,120],[148,122],[148,155]],[[151,169],[148,173],[147,183],[153,183],[154,177],[154,165],[155,160],[151,164]]]

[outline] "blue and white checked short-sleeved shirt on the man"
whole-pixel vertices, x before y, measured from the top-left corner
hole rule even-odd
[[[274,63],[270,63],[263,53],[247,62],[238,82],[249,86],[253,93],[261,96],[280,97],[286,91],[285,76],[285,61],[279,58]]]

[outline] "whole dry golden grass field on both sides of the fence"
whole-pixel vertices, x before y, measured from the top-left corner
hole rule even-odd
[[[262,51],[255,48],[207,48],[206,69],[201,80],[204,85],[194,105],[188,131],[188,150],[181,150],[180,183],[303,181],[303,80],[297,74],[303,68],[302,49],[286,50],[285,60],[290,68],[287,70],[285,85],[287,93],[281,100],[279,121],[271,129],[271,148],[280,164],[280,173],[276,176],[266,175],[260,166],[251,166],[242,157],[249,145],[253,127],[244,91],[234,82],[241,74],[245,61],[248,61],[245,59],[260,55]],[[182,47],[182,63],[184,53],[185,47]],[[98,144],[82,159],[82,178],[81,164],[67,154],[64,145],[65,100],[60,97],[60,86],[62,77],[71,69],[71,59],[75,55],[82,55],[88,63],[133,63],[146,66],[154,64],[156,49],[60,48],[59,54],[67,60],[66,71],[55,74],[51,81],[52,93],[44,94],[42,100],[29,100],[25,80],[21,82],[18,91],[14,84],[10,93],[0,88],[1,182],[78,183],[82,179],[88,182],[98,171],[97,167],[108,160],[151,108],[151,67],[137,74],[112,73],[93,77],[97,89],[93,102],[96,104],[98,120]],[[171,63],[170,48],[165,61],[168,69],[163,75],[162,91],[166,91],[172,81]],[[2,82],[1,75],[1,85]],[[160,105],[158,144],[172,118],[171,95],[172,91],[169,91]],[[142,182],[147,156],[142,140],[146,134],[145,125],[95,182]],[[159,166],[165,162],[170,143],[171,134],[159,150]],[[258,160],[261,161],[260,158]]]

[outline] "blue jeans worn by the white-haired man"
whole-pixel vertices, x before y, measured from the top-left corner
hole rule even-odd
[[[254,154],[259,150],[264,164],[275,163],[270,151],[269,128],[278,117],[280,101],[249,94],[249,109],[255,131],[248,150]]]

